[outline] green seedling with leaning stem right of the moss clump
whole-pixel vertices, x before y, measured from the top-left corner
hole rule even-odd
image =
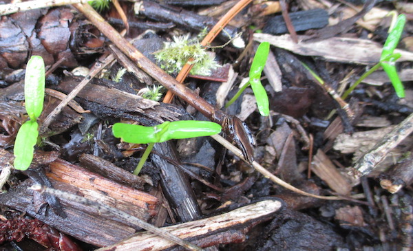
[[[228,103],[226,103],[225,107],[229,107],[235,100],[237,100],[237,98],[240,97],[242,91],[244,91],[246,87],[251,85],[255,99],[257,100],[257,107],[261,115],[268,116],[270,114],[268,96],[266,94],[265,88],[261,83],[262,70],[264,69],[269,52],[270,43],[263,42],[260,44],[260,46],[258,46],[257,52],[255,52],[253,63],[251,64],[248,83],[240,88],[237,94],[235,94],[235,96],[231,98]]]

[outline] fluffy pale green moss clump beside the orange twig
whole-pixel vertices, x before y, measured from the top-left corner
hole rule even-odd
[[[211,69],[220,67],[198,39],[190,39],[189,34],[173,36],[173,42],[165,42],[164,49],[155,52],[155,58],[169,74],[179,72],[185,63],[193,65],[190,72],[193,75],[207,76],[211,74]]]

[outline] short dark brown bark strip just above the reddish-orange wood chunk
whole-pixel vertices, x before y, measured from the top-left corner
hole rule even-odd
[[[79,162],[81,166],[84,166],[90,171],[98,173],[108,179],[112,179],[114,182],[124,184],[125,186],[131,186],[142,190],[143,185],[145,184],[145,180],[142,179],[142,177],[133,175],[101,157],[92,154],[82,154],[79,157]]]

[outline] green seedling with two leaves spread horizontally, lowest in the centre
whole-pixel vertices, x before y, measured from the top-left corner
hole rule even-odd
[[[134,175],[138,175],[155,143],[214,135],[221,132],[221,126],[215,122],[194,120],[168,121],[154,127],[116,123],[112,132],[116,138],[128,143],[149,144],[135,168]]]

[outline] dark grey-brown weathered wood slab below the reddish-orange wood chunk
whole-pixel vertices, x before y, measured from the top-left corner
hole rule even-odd
[[[52,181],[52,183],[55,188],[65,190],[68,193],[78,192],[74,186],[63,182]],[[103,219],[96,212],[87,212],[85,211],[87,208],[80,209],[72,201],[64,199],[60,201],[67,215],[66,218],[56,215],[53,210],[47,210],[47,213],[45,210],[38,210],[34,205],[36,202],[34,195],[39,195],[39,193],[34,194],[32,190],[28,190],[28,187],[33,184],[31,179],[26,179],[17,188],[3,193],[0,196],[0,204],[25,212],[65,234],[98,247],[112,245],[136,232],[134,228],[112,221],[112,219]]]

